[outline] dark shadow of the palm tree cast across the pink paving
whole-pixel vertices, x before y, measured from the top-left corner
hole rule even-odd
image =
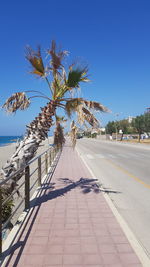
[[[30,207],[35,207],[35,206],[39,206],[41,205],[43,202],[47,202],[49,200],[58,198],[58,197],[63,197],[65,196],[68,192],[72,191],[75,188],[80,188],[81,189],[81,193],[83,194],[87,194],[90,192],[93,193],[115,193],[118,194],[120,193],[119,191],[115,191],[115,190],[110,190],[110,189],[103,189],[99,183],[97,179],[89,179],[89,178],[80,178],[78,181],[73,181],[71,179],[68,178],[59,178],[59,181],[62,182],[63,187],[59,188],[59,189],[55,189],[54,184],[49,184],[47,186],[41,187],[41,191],[44,190],[44,194],[41,194],[40,197],[38,197],[35,201],[35,199],[33,199],[30,203]],[[51,191],[52,190],[52,191]]]

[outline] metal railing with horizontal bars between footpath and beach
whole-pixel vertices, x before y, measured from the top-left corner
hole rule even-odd
[[[13,175],[9,176],[4,180],[0,180],[0,254],[2,253],[2,242],[3,242],[3,231],[10,224],[12,218],[18,212],[18,217],[21,212],[25,209],[28,210],[30,208],[30,199],[31,193],[35,192],[35,187],[40,187],[42,185],[42,178],[44,175],[48,174],[48,169],[52,166],[52,163],[58,153],[58,149],[56,147],[50,147],[46,151],[44,151],[39,156],[33,158],[25,165],[22,169],[15,172]],[[14,178],[16,175],[23,173],[22,177],[19,179],[19,186],[13,190],[13,192],[5,199],[2,199],[2,188],[4,185],[7,185],[7,182]],[[31,179],[32,177],[32,179]],[[34,178],[33,178],[34,177]],[[33,180],[33,184],[31,182]],[[2,221],[2,209],[4,205],[7,205],[7,202],[14,198],[17,195],[17,192],[21,191],[20,201],[18,199],[16,201],[16,205],[11,215],[5,222]],[[22,194],[24,196],[22,196]],[[15,202],[15,200],[13,199]],[[22,207],[22,209],[21,209]],[[16,219],[17,221],[17,219]]]

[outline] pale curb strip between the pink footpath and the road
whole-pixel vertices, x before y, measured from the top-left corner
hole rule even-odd
[[[79,157],[82,159],[83,163],[89,170],[90,174],[92,175],[93,178],[95,178],[95,175],[93,171],[90,169],[86,161],[84,160],[83,156],[79,152],[79,150],[76,147],[76,151],[79,155]],[[101,187],[102,188],[102,187]],[[103,188],[102,188],[103,189]],[[138,256],[139,260],[141,261],[143,267],[148,267],[150,266],[150,258],[147,255],[147,252],[143,248],[143,246],[139,243],[129,226],[127,225],[126,221],[123,219],[123,217],[120,215],[118,212],[117,208],[115,207],[114,203],[112,202],[111,198],[109,197],[108,194],[102,192],[106,202],[108,203],[110,209],[112,210],[114,216],[116,217],[116,220],[118,221],[120,227],[122,228],[124,234],[126,235],[129,243],[131,244],[133,250],[135,251],[136,255]]]

